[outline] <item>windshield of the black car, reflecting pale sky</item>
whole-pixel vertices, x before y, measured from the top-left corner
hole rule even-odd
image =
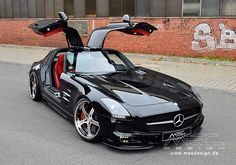
[[[68,52],[67,63],[74,63],[76,73],[112,73],[134,68],[134,65],[117,51]]]

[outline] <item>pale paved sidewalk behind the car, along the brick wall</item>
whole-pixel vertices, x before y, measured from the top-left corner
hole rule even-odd
[[[0,61],[32,64],[53,48],[0,45]],[[193,86],[236,92],[236,62],[127,54],[136,65],[169,74]]]

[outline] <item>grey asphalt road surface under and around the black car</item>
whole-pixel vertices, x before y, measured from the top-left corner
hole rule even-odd
[[[198,138],[165,148],[125,152],[84,142],[70,122],[45,104],[33,102],[28,94],[28,70],[28,65],[0,63],[0,164],[236,162],[236,93],[199,89],[206,118]]]

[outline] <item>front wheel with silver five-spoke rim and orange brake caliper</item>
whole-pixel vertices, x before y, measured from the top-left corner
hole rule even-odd
[[[91,102],[86,98],[80,99],[75,106],[74,125],[77,133],[85,141],[100,142],[100,124],[95,109]]]

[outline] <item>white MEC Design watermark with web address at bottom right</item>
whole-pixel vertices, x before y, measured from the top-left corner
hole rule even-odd
[[[171,133],[165,140],[164,150],[173,156],[218,156],[225,150],[224,142],[217,133],[195,133],[186,136],[184,132]]]

